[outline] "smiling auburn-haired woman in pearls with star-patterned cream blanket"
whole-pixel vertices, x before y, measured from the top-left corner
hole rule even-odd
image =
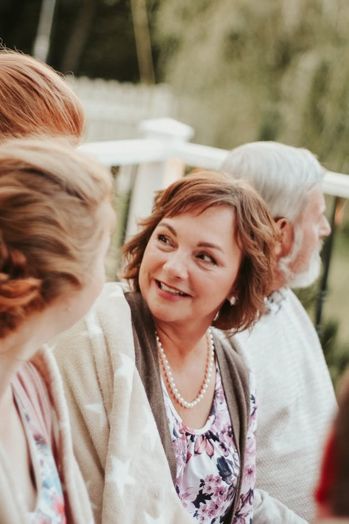
[[[130,288],[107,285],[61,337],[55,354],[97,521],[252,520],[253,380],[215,328],[248,328],[263,311],[277,241],[250,185],[190,174],[156,195],[123,247]]]

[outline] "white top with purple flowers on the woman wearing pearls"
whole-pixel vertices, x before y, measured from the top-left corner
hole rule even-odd
[[[190,429],[179,417],[162,382],[166,414],[176,455],[176,490],[183,506],[197,522],[224,522],[232,504],[240,470],[226,398],[216,365],[212,409],[201,429]],[[255,484],[256,401],[250,375],[251,410],[247,431],[244,476],[234,524],[251,524]]]

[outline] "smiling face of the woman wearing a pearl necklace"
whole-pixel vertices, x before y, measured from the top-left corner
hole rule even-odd
[[[231,208],[213,206],[201,214],[164,217],[157,225],[139,273],[155,323],[212,323],[240,267],[233,222]]]

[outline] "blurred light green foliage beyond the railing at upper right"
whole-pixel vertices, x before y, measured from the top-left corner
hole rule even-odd
[[[348,24],[343,0],[161,0],[161,78],[199,143],[274,139],[349,172]]]

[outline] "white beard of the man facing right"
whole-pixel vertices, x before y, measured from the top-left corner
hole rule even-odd
[[[300,273],[295,273],[289,269],[289,266],[297,258],[299,249],[302,247],[302,239],[303,233],[300,229],[297,228],[295,230],[294,245],[292,247],[291,253],[279,261],[279,270],[284,274],[287,286],[290,288],[307,288],[311,286],[312,283],[317,280],[321,271],[321,240],[318,241],[317,246],[311,255],[307,269],[301,271]]]

